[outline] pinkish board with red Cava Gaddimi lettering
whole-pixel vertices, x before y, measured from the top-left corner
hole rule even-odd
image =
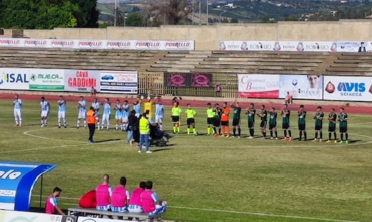
[[[64,70],[64,90],[90,92],[92,87],[100,91],[101,71],[97,70]]]

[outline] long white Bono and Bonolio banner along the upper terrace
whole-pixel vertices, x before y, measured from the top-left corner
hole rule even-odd
[[[221,41],[220,50],[231,51],[337,51],[336,42]]]

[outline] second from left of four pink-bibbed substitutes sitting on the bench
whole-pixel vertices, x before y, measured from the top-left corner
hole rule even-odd
[[[125,188],[126,178],[120,178],[120,185],[115,187],[111,196],[111,210],[113,212],[128,212],[129,191]]]

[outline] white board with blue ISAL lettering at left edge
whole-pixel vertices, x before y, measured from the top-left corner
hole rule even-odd
[[[0,89],[28,90],[30,69],[0,68]]]

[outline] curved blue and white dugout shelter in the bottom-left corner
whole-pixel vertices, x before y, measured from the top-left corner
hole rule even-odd
[[[0,209],[29,211],[36,180],[56,165],[0,162]]]

